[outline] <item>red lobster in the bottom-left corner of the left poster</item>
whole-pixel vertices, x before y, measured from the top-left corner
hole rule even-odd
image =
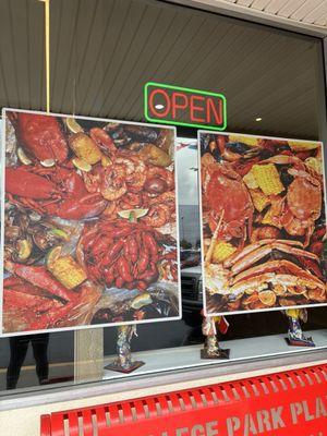
[[[99,290],[83,283],[65,289],[45,266],[5,263],[13,275],[3,280],[4,331],[39,330],[78,324],[83,308],[95,304]]]

